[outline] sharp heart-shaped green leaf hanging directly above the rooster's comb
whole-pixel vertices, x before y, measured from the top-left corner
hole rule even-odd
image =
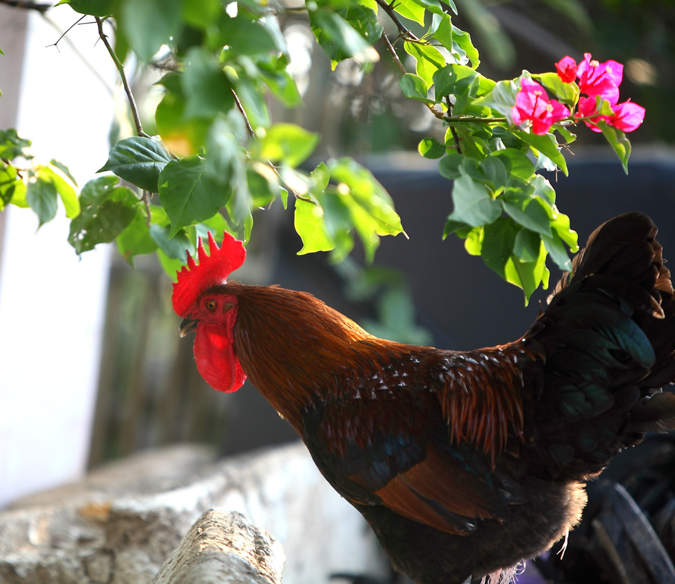
[[[225,205],[229,193],[205,174],[206,164],[199,156],[172,160],[159,176],[159,200],[169,219],[173,237],[181,227],[213,217]]]

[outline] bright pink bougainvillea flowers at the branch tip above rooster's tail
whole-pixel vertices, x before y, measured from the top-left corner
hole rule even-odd
[[[579,65],[571,56],[565,56],[555,64],[563,83],[579,80],[580,95],[574,117],[582,118],[583,123],[594,132],[601,132],[597,126],[599,121],[605,121],[623,132],[632,132],[645,119],[645,108],[630,100],[619,103],[623,65],[616,61],[599,63],[591,58],[590,53],[585,53],[583,57]],[[594,115],[599,111],[598,97],[610,104],[612,114]],[[571,118],[572,114],[559,101],[549,99],[546,90],[539,83],[523,77],[512,108],[512,116],[517,124],[530,121],[532,132],[543,135],[554,123]]]

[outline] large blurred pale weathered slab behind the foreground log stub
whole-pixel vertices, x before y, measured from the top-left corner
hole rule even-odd
[[[298,443],[220,461],[196,446],[145,452],[16,501],[0,512],[0,582],[149,584],[211,508],[280,541],[285,584],[382,574],[370,529]]]

